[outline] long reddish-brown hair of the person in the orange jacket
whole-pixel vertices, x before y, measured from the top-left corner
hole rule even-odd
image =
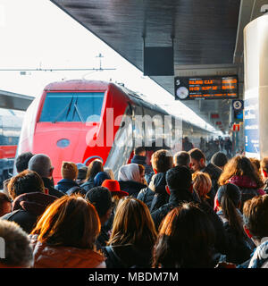
[[[54,246],[94,249],[100,225],[95,206],[79,195],[63,196],[46,208],[31,234]]]

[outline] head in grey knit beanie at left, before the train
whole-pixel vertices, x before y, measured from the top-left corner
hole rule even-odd
[[[29,159],[28,168],[30,171],[37,172],[41,178],[52,178],[54,167],[49,156],[37,154]]]

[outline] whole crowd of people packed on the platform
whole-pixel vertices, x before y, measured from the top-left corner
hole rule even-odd
[[[54,184],[49,156],[18,156],[0,192],[0,267],[268,267],[268,157],[160,149],[150,162],[137,147],[115,178],[98,159],[63,161]]]

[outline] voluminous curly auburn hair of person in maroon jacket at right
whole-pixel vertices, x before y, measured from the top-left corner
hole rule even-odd
[[[257,188],[261,188],[264,185],[260,174],[256,172],[254,165],[246,156],[235,156],[228,161],[219,178],[219,184],[224,185],[228,183],[233,176],[247,176],[252,181],[255,181]]]

